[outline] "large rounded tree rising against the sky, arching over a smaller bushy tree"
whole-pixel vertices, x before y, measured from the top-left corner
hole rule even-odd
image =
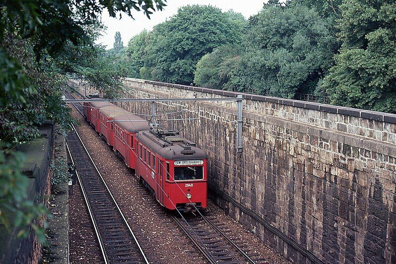
[[[145,72],[161,81],[190,84],[198,60],[214,48],[242,39],[239,21],[210,5],[180,8],[154,27],[146,49]]]

